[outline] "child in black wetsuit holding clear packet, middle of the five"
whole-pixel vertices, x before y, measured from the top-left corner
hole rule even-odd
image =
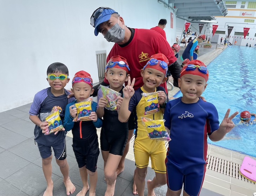
[[[107,62],[105,78],[109,81],[109,87],[122,94],[117,100],[118,110],[123,100],[123,84],[130,76],[129,70],[126,59],[121,56],[113,56]],[[107,182],[105,195],[114,195],[118,165],[128,138],[128,123],[121,123],[118,120],[118,111],[107,110],[104,108],[106,105],[107,100],[103,98],[100,89],[98,91],[97,115],[99,118],[103,117],[100,148],[104,159],[104,174]]]

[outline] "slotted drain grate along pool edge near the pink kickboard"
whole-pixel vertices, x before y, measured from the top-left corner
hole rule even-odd
[[[135,140],[135,135],[133,135],[132,139],[130,142],[134,143]],[[168,148],[168,142],[165,142],[165,147],[166,150]],[[211,156],[211,155],[207,155],[207,162],[208,164],[206,165],[207,169],[210,169],[212,171],[230,176],[230,177],[234,177],[236,179],[245,181],[245,182],[249,182],[251,184],[256,184],[254,182],[251,182],[250,180],[246,179],[245,177],[243,177],[242,175],[240,175],[239,173],[239,169],[241,167],[241,165],[237,164],[237,163],[233,163],[224,159],[219,159],[215,156]]]

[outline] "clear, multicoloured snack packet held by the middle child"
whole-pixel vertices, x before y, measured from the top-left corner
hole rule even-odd
[[[107,99],[107,106],[105,107],[107,110],[116,111],[117,110],[117,97],[121,96],[122,94],[107,87],[100,85],[99,88],[101,88],[103,97]]]

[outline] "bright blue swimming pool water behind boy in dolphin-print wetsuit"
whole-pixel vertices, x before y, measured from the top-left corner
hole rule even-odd
[[[218,110],[219,121],[230,108],[239,114],[233,121],[235,128],[223,140],[208,143],[256,157],[256,124],[239,124],[240,112],[256,113],[256,48],[233,46],[225,49],[207,67],[209,81],[205,99]],[[181,97],[179,91],[174,97]],[[253,120],[254,118],[252,118]]]

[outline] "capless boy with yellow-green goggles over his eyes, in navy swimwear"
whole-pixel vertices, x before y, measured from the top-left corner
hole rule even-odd
[[[44,196],[53,195],[51,147],[53,148],[56,162],[63,174],[67,195],[74,193],[76,190],[76,187],[70,181],[69,168],[66,160],[65,137],[67,132],[59,131],[54,134],[44,135],[49,127],[45,118],[51,113],[52,108],[54,106],[60,106],[62,108],[63,111],[60,113],[60,118],[63,121],[66,105],[74,100],[74,98],[67,99],[69,92],[64,89],[69,80],[66,65],[62,63],[52,63],[47,69],[47,81],[50,87],[35,94],[29,110],[29,119],[36,125],[34,129],[34,140],[38,144],[42,157],[42,169],[47,182]]]

